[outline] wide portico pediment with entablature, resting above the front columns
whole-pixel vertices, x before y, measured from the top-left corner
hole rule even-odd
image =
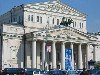
[[[63,28],[51,28],[43,29],[37,32],[33,32],[36,39],[48,39],[59,41],[74,41],[74,42],[93,42],[97,38],[95,36],[88,35],[71,27]],[[29,37],[29,36],[28,36]]]

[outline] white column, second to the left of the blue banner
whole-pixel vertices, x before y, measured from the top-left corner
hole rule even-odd
[[[52,68],[56,69],[56,46],[55,41],[52,43]]]

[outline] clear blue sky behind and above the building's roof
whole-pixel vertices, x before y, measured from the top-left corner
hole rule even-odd
[[[0,0],[0,15],[14,6],[53,0]],[[100,32],[100,0],[60,0],[64,4],[87,14],[87,31]]]

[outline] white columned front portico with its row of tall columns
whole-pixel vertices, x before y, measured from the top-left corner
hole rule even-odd
[[[63,29],[64,30],[64,29]],[[61,31],[63,31],[61,30]],[[61,34],[61,31],[58,31],[57,34]],[[65,32],[65,31],[64,31]],[[70,30],[69,30],[70,32]],[[32,68],[41,68],[41,69],[63,69],[65,70],[65,48],[71,48],[72,49],[72,69],[82,69],[83,67],[88,68],[88,49],[89,46],[92,43],[89,43],[89,39],[87,41],[85,40],[79,40],[79,39],[73,39],[68,38],[69,36],[66,34],[63,35],[64,37],[58,38],[55,36],[52,36],[55,32],[49,32],[49,36],[38,36],[38,33],[33,33],[31,36],[28,34],[27,36],[30,36],[30,38],[27,37],[29,41],[31,41],[32,46]],[[71,33],[70,33],[71,34]],[[77,32],[75,33],[77,35]],[[33,37],[33,35],[37,35]],[[46,37],[46,39],[45,39]],[[73,36],[76,38],[76,36]],[[85,38],[86,36],[83,35],[82,38]],[[38,46],[38,44],[40,46]],[[92,44],[93,47],[95,46]],[[51,46],[51,51],[47,51],[47,46]],[[38,49],[37,49],[38,47]],[[95,51],[95,48],[94,48]],[[40,57],[37,59],[37,53],[40,52]],[[42,58],[41,58],[42,57]],[[95,52],[93,54],[93,57],[95,59]],[[38,62],[37,64],[37,60]]]

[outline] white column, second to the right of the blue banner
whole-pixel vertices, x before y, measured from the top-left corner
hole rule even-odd
[[[78,69],[83,69],[81,43],[78,46]]]

